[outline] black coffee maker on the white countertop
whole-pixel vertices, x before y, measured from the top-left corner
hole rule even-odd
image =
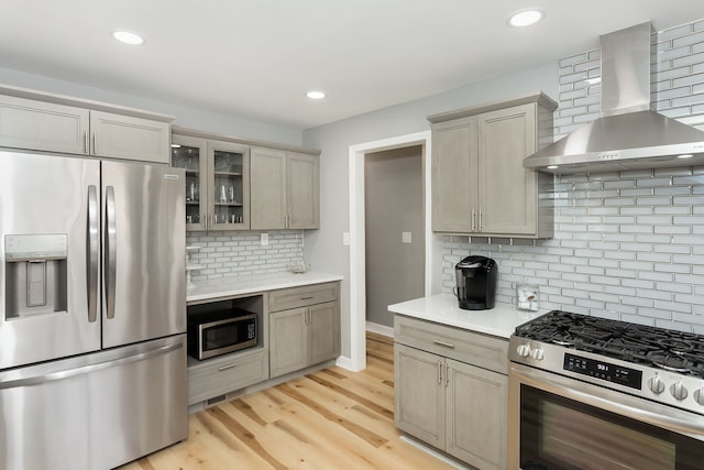
[[[486,256],[466,256],[454,266],[455,295],[460,308],[488,310],[494,308],[496,297],[496,262]]]

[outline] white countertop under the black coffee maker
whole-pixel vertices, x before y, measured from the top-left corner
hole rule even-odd
[[[463,310],[458,306],[457,297],[450,294],[436,294],[389,305],[388,310],[501,338],[509,338],[518,325],[548,311],[524,311],[499,303],[491,310]]]

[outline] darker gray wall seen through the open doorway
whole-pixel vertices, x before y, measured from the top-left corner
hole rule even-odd
[[[364,159],[366,320],[377,325],[393,327],[386,307],[425,292],[422,166],[420,145]]]

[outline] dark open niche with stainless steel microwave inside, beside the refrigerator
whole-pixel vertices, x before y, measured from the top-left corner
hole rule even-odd
[[[204,360],[256,346],[256,314],[241,308],[188,317],[188,354]]]

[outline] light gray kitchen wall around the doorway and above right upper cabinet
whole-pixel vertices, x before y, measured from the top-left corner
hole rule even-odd
[[[321,225],[320,230],[306,233],[306,260],[317,271],[344,276],[341,288],[342,356],[349,357],[351,352],[350,316],[364,315],[364,311],[350,311],[350,249],[342,243],[342,234],[350,231],[350,145],[428,131],[430,125],[426,117],[429,114],[539,90],[552,98],[558,96],[557,62],[304,131],[304,145],[322,152]]]

